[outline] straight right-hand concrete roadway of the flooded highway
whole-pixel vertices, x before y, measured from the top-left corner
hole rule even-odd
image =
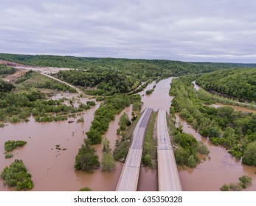
[[[159,191],[182,191],[164,110],[157,118],[157,156]]]

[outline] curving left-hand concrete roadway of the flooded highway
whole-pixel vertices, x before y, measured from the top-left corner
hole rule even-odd
[[[125,165],[122,168],[116,191],[136,191],[137,189],[145,131],[148,127],[152,111],[153,109],[146,108],[136,124],[132,143],[125,160]]]

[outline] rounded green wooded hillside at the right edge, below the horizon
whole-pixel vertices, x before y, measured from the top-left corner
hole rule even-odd
[[[244,101],[256,101],[256,68],[238,68],[204,74],[196,83],[205,90],[214,90]]]

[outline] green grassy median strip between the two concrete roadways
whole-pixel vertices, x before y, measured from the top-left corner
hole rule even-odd
[[[145,134],[145,141],[142,152],[143,165],[149,166],[151,168],[156,168],[157,163],[156,135],[154,134],[156,115],[156,113],[152,113],[151,120],[149,121],[148,129]]]

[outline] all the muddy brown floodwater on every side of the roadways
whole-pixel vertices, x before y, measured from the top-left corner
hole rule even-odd
[[[170,82],[172,78],[163,79],[159,83],[152,82],[139,94],[142,96],[142,110],[145,107],[151,107],[154,111],[158,109],[166,110],[169,113],[170,102],[172,97],[169,96]],[[151,95],[145,95],[146,90],[153,88],[155,90]],[[66,98],[77,99],[74,94],[63,94]],[[55,98],[59,98],[55,96]],[[81,102],[88,101],[88,98],[80,98]],[[93,99],[91,99],[93,100]],[[74,101],[73,101],[74,102]],[[93,191],[115,191],[117,182],[122,171],[122,163],[116,165],[116,169],[110,173],[102,172],[100,169],[94,173],[88,174],[83,171],[75,171],[75,155],[85,132],[89,130],[91,121],[94,118],[94,111],[99,107],[99,102],[95,107],[86,110],[83,114],[84,123],[72,124],[67,121],[37,123],[31,117],[27,123],[8,124],[0,128],[0,171],[5,166],[9,166],[14,159],[21,159],[27,166],[32,180],[35,183],[32,191],[78,191],[80,188],[89,187]],[[76,105],[76,104],[75,104]],[[131,118],[131,106],[126,107],[122,113],[128,113]],[[112,149],[119,136],[116,134],[120,113],[114,121],[109,124],[109,129],[104,137],[111,142]],[[71,118],[72,119],[72,118]],[[198,140],[201,136],[193,128],[189,127],[186,122],[179,119],[178,121],[184,128],[184,132],[193,134]],[[27,141],[21,149],[15,149],[11,159],[4,158],[4,142],[8,140]],[[184,191],[218,191],[224,183],[237,182],[238,177],[248,175],[253,178],[252,187],[249,191],[256,191],[256,168],[243,166],[235,160],[225,149],[212,146],[209,141],[203,139],[210,149],[210,160],[205,160],[196,169],[184,170],[179,168],[181,185]],[[60,148],[66,150],[57,150],[55,145],[59,144]],[[101,157],[101,146],[95,146],[97,153]],[[4,186],[0,180],[0,191],[12,191],[12,188]],[[157,170],[151,170],[142,167],[139,175],[138,191],[157,191]]]

